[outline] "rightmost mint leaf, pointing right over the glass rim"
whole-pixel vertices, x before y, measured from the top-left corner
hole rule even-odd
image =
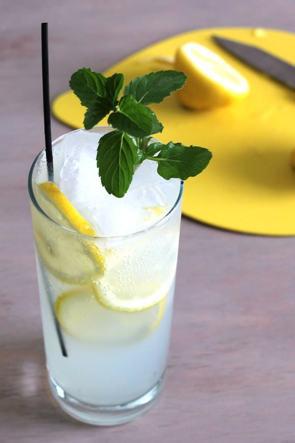
[[[199,146],[183,146],[181,143],[169,142],[162,145],[156,157],[148,158],[158,162],[158,174],[164,179],[180,178],[186,180],[195,177],[206,168],[212,154]]]

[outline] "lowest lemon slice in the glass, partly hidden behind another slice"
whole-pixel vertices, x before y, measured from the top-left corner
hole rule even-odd
[[[166,300],[135,313],[106,309],[90,286],[62,292],[55,302],[55,313],[62,329],[70,336],[105,345],[138,341],[152,332],[165,312]]]

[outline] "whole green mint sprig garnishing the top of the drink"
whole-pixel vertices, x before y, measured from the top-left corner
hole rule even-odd
[[[70,87],[88,108],[84,127],[91,129],[110,114],[108,123],[114,131],[100,138],[96,156],[101,183],[107,192],[123,197],[132,181],[134,165],[146,159],[157,161],[157,171],[166,180],[186,180],[206,168],[212,157],[206,148],[173,142],[149,143],[151,135],[162,132],[163,125],[147,105],[160,103],[181,89],[185,81],[183,72],[151,72],[126,85],[118,100],[124,82],[122,74],[105,77],[83,68],[72,75]]]

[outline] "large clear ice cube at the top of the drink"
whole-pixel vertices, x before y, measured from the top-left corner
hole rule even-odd
[[[136,168],[129,190],[117,198],[102,187],[96,167],[96,149],[102,134],[76,131],[64,137],[64,159],[59,188],[88,220],[98,235],[125,235],[153,224],[177,199],[179,181],[165,180],[155,161]]]

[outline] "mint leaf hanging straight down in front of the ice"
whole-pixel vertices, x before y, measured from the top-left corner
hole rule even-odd
[[[99,140],[96,162],[101,184],[109,194],[125,195],[134,174],[136,152],[132,138],[122,131],[108,132]]]

